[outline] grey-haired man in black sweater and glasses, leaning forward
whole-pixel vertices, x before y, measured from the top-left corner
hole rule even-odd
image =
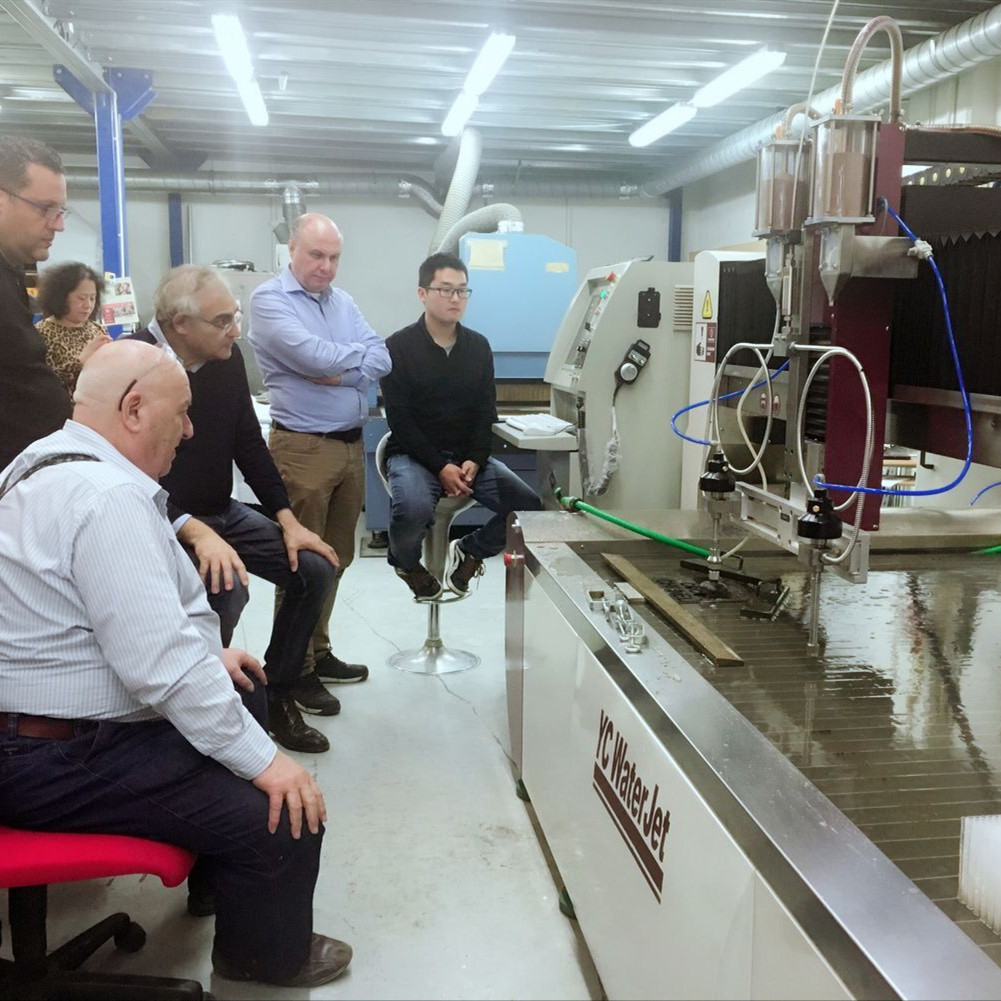
[[[176,267],[160,281],[153,305],[155,318],[133,336],[173,354],[191,383],[194,436],[181,442],[161,481],[174,531],[205,581],[223,647],[247,604],[247,572],[281,589],[264,654],[268,729],[290,751],[326,751],[329,742],[305,725],[295,698],[336,554],[292,513],[254,413],[236,346],[240,315],[225,282],[208,267]],[[270,517],[233,499],[234,462]]]

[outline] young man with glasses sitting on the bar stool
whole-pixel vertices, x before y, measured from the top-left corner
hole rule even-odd
[[[418,602],[442,589],[468,594],[483,560],[504,549],[508,515],[539,511],[539,495],[490,455],[497,418],[489,342],[460,322],[472,294],[465,264],[452,254],[428,257],[417,273],[424,313],[386,338],[392,371],[382,379],[390,436],[389,566]],[[471,496],[493,517],[448,546],[444,580],[420,562],[420,547],[441,494]]]

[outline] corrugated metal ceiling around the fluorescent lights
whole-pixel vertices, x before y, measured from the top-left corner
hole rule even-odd
[[[2,6],[18,0],[3,0]],[[203,164],[304,176],[328,170],[427,175],[440,124],[491,29],[515,51],[470,124],[483,136],[479,179],[590,176],[640,184],[806,97],[830,0],[49,0],[35,4],[100,67],[153,76],[142,121],[172,154],[130,130],[126,152],[161,168]],[[817,78],[838,82],[859,29],[894,17],[905,48],[995,6],[974,0],[841,3]],[[270,124],[254,128],[215,45],[210,16],[239,13]],[[758,85],[705,109],[646,149],[637,125],[756,47],[786,49]],[[888,55],[870,44],[862,68]],[[53,57],[0,9],[0,127],[92,155],[91,119],[53,81]],[[282,87],[284,74],[287,79]],[[141,131],[141,129],[139,130]],[[80,162],[86,162],[82,159]]]

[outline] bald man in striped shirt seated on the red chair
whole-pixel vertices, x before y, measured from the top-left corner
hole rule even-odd
[[[0,472],[0,823],[197,853],[215,973],[314,987],[351,958],[312,930],[323,796],[234,690],[259,665],[221,648],[157,482],[190,400],[165,352],[109,344]]]

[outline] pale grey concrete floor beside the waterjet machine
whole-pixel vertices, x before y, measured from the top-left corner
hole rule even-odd
[[[253,581],[234,646],[261,656],[271,608],[271,588]],[[310,720],[331,749],[298,757],[329,814],[315,927],[353,946],[348,972],[313,991],[214,977],[212,919],[190,918],[183,887],[155,877],[53,887],[50,946],[127,910],[147,930],[145,948],[106,946],[86,969],[192,977],[218,998],[602,998],[577,926],[559,910],[531,808],[515,794],[499,558],[470,599],[441,614],[445,643],[481,658],[472,671],[435,678],[385,666],[420,646],[426,611],[379,557],[348,570],[332,626],[334,652],[371,677],[332,687],[341,714]]]

